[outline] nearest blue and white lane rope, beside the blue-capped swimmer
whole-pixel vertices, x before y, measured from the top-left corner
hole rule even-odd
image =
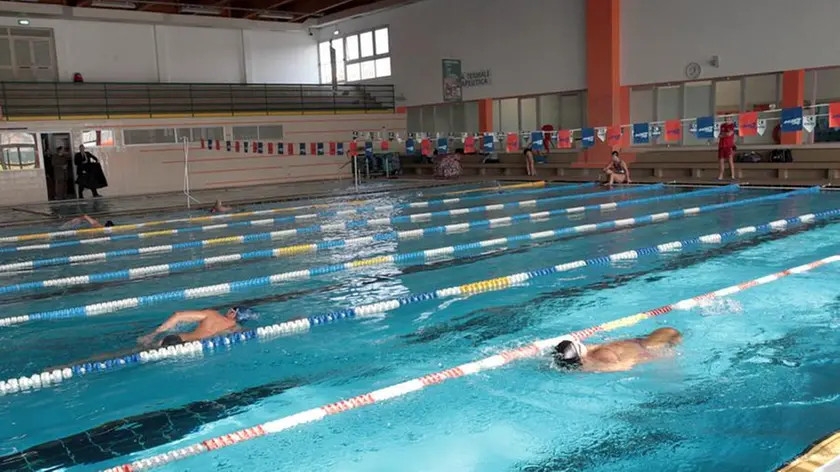
[[[792,229],[796,225],[827,221],[837,218],[838,216],[840,216],[840,209],[809,213],[792,218],[771,221],[760,225],[745,226],[731,231],[712,233],[681,241],[671,241],[656,246],[618,252],[608,256],[567,262],[552,267],[508,275],[497,279],[473,282],[466,285],[443,288],[432,292],[410,294],[402,298],[343,308],[321,315],[301,318],[299,320],[285,321],[269,326],[262,326],[256,329],[248,329],[239,333],[216,336],[203,341],[193,341],[191,343],[169,346],[166,348],[149,349],[98,362],[74,364],[64,369],[56,369],[48,372],[41,372],[39,374],[23,375],[21,377],[0,381],[0,394],[15,393],[20,390],[28,390],[30,388],[45,388],[74,377],[78,378],[93,372],[110,372],[126,365],[201,355],[204,352],[212,352],[216,347],[230,346],[253,340],[269,340],[278,336],[302,333],[308,331],[313,326],[320,326],[340,320],[352,319],[359,315],[384,313],[405,305],[412,305],[426,300],[439,300],[456,296],[474,295],[493,290],[502,290],[521,284],[527,280],[584,267],[605,266],[619,260],[633,260],[643,256],[657,256],[660,254],[674,253],[682,250],[702,247],[706,244],[722,244],[734,241],[742,236],[756,236],[771,232],[786,231]]]

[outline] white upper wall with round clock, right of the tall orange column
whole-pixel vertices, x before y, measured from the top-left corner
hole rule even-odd
[[[623,85],[840,64],[837,0],[622,0]],[[720,67],[707,61],[720,56]]]

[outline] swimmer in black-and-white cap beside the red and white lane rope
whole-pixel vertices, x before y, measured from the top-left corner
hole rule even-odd
[[[671,348],[681,342],[682,335],[674,328],[659,328],[642,338],[589,347],[569,338],[554,347],[554,364],[583,372],[623,372],[636,364],[667,357],[673,353]]]

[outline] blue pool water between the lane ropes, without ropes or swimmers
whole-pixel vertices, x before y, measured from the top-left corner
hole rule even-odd
[[[436,218],[393,229],[694,190],[666,188],[583,198],[536,209]],[[600,191],[491,194],[485,201],[456,207]],[[437,198],[435,193],[442,191],[425,191],[423,196],[395,192],[377,196],[375,204]],[[662,200],[419,240],[379,241],[315,254],[226,264],[130,283],[5,295],[0,296],[0,304],[3,316],[15,316],[775,193],[742,189]],[[476,249],[426,263],[377,265],[94,318],[4,327],[0,329],[4,358],[0,379],[130,349],[138,336],[154,329],[174,310],[248,301],[261,314],[254,326],[268,325],[835,208],[840,208],[840,194],[800,195],[622,230]],[[429,210],[377,216],[425,211]],[[50,388],[7,394],[0,397],[0,470],[99,470],[454,367],[535,339],[701,295],[840,252],[840,227],[832,223],[577,269],[501,291],[422,302],[383,315],[313,327],[295,336],[244,343],[200,357],[94,373]],[[35,232],[45,228],[28,229]],[[0,284],[391,229],[361,228],[247,246],[216,246],[2,273]],[[154,238],[139,244],[169,244],[264,230],[219,230]],[[2,254],[0,264],[136,246],[137,241],[126,241]],[[622,339],[673,326],[685,337],[673,360],[643,365],[631,372],[595,375],[559,373],[551,370],[544,358],[521,360],[192,457],[161,470],[770,470],[818,437],[836,430],[840,422],[840,397],[834,380],[840,363],[836,329],[840,325],[839,273],[836,266],[821,267],[592,339]]]

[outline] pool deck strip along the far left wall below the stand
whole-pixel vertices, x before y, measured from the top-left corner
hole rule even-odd
[[[353,181],[349,179],[195,190],[191,192],[191,195],[200,203],[193,202],[192,209],[209,209],[216,200],[230,205],[254,205],[324,197],[375,195],[389,191],[498,180],[507,179],[476,177],[455,181],[412,178],[372,180],[360,185],[358,191],[354,188]],[[106,195],[99,198],[0,206],[0,228],[65,221],[84,214],[104,218],[186,210],[186,196],[181,192],[125,197],[108,197],[107,189],[103,193]]]

